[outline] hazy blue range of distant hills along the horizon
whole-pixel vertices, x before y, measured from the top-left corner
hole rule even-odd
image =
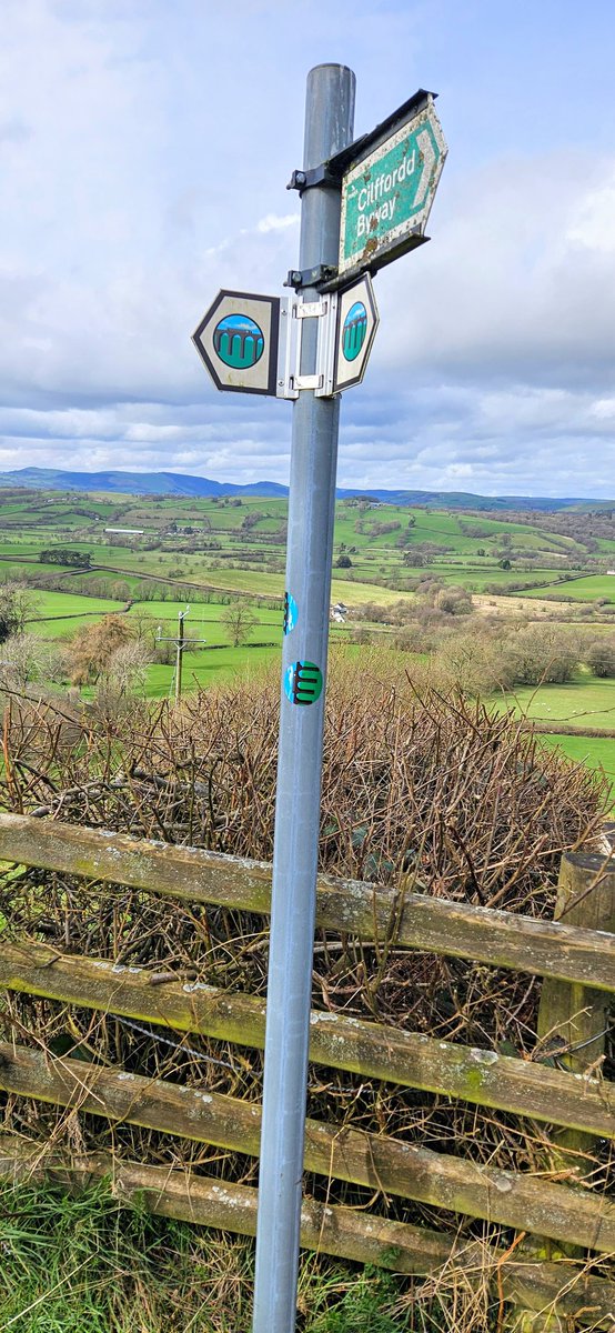
[[[61,468],[19,468],[0,473],[0,487],[28,487],[37,491],[106,491],[110,493],[142,496],[269,496],[285,497],[288,487],[277,481],[253,481],[236,485],[232,481],[210,481],[209,477],[190,477],[182,472],[68,472]],[[559,509],[607,509],[615,500],[583,500],[570,497],[555,500],[548,496],[475,496],[466,491],[365,491],[338,489],[338,499],[369,496],[382,504],[433,505],[438,509],[535,509],[556,513]]]

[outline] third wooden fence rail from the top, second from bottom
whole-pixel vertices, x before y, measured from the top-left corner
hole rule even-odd
[[[40,1050],[4,1042],[0,1044],[0,1088],[258,1156],[260,1105],[201,1088],[88,1066],[80,1060],[52,1060]],[[607,1200],[580,1196],[543,1178],[493,1170],[401,1140],[308,1120],[305,1166],[552,1240],[615,1250],[615,1205]]]

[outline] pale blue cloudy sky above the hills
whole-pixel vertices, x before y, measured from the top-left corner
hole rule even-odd
[[[190,333],[298,259],[305,77],[439,92],[431,243],[375,279],[347,487],[615,496],[612,0],[1,0],[0,469],[286,481]]]

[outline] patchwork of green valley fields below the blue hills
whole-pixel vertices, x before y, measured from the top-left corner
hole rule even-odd
[[[177,615],[189,603],[186,636],[205,640],[205,647],[185,653],[186,689],[234,673],[277,674],[286,515],[288,501],[269,497],[241,497],[240,503],[173,496],[11,495],[0,504],[0,581],[17,579],[35,585],[36,605],[27,628],[49,641],[69,640],[109,612],[126,615],[140,635],[149,625],[150,641],[158,625],[162,636],[172,639]],[[354,609],[366,604],[386,609],[402,601],[411,609],[417,587],[435,579],[483,597],[489,588],[499,595],[498,611],[510,601],[512,616],[520,615],[524,605],[531,613],[532,600],[550,599],[554,605],[567,601],[570,607],[598,599],[615,603],[615,576],[606,573],[614,563],[615,523],[610,535],[606,521],[596,537],[587,516],[578,516],[570,533],[566,524],[564,531],[548,531],[546,520],[538,521],[531,513],[524,523],[519,516],[507,521],[489,512],[338,501],[331,601],[350,608],[350,621]],[[138,528],[142,535],[117,535],[106,528]],[[586,529],[592,535],[588,547]],[[41,563],[40,552],[53,547],[79,552],[91,568]],[[602,572],[587,569],[588,551],[594,560],[596,552],[602,556]],[[339,556],[350,560],[350,568],[337,568]],[[509,559],[510,569],[502,568]],[[587,573],[576,577],[576,572]],[[515,584],[523,583],[532,587],[515,593]],[[236,596],[248,599],[256,619],[248,641],[238,648],[232,647],[222,621],[225,605]],[[347,645],[349,628],[331,627],[331,643]],[[375,628],[381,636],[395,632],[386,623]],[[583,639],[608,631],[595,615],[591,625],[579,627]],[[359,651],[346,647],[350,653]],[[148,666],[150,696],[170,693],[173,681],[173,664]],[[615,742],[566,734],[570,726],[615,729],[612,681],[586,673],[570,685],[518,689],[498,700],[497,706],[514,706],[556,726],[558,736],[544,737],[544,744],[562,744],[572,758],[582,756],[612,773]]]

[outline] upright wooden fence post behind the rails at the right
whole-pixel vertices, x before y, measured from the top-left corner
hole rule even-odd
[[[612,824],[607,825],[606,848],[615,848],[611,830],[615,830]],[[606,850],[604,856],[567,852],[562,857],[554,920],[615,933],[615,850],[610,854]],[[538,1036],[544,1042],[546,1053],[554,1052],[559,1068],[588,1077],[595,1070],[595,1077],[600,1077],[611,1006],[612,997],[604,992],[544,977]],[[559,1054],[558,1044],[562,1048]],[[555,1145],[551,1164],[568,1173],[567,1184],[582,1180],[591,1170],[595,1134],[554,1126],[551,1141]],[[536,1237],[531,1244],[535,1246]],[[552,1242],[547,1238],[544,1248],[546,1257],[551,1257]],[[563,1249],[570,1257],[582,1253],[576,1246],[564,1245]],[[567,1325],[558,1314],[515,1308],[506,1328],[510,1333],[559,1333]]]

